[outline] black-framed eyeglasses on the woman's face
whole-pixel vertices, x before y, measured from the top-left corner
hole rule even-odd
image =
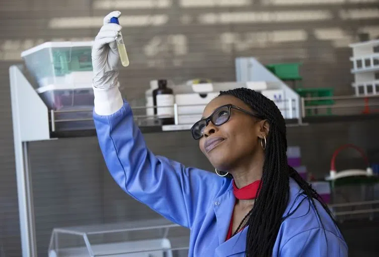
[[[191,134],[192,137],[195,140],[201,139],[201,137],[204,135],[204,129],[209,124],[210,121],[212,121],[213,125],[220,126],[226,121],[228,121],[231,117],[232,109],[236,109],[242,112],[245,112],[246,114],[249,114],[250,116],[263,119],[261,116],[256,115],[250,111],[244,110],[236,105],[233,104],[226,104],[223,106],[218,107],[215,109],[212,114],[209,115],[207,118],[202,118],[199,121],[197,121],[192,127],[191,127]]]

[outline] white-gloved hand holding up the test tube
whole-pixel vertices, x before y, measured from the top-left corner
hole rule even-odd
[[[92,47],[92,66],[94,77],[92,85],[96,88],[112,88],[118,82],[118,65],[120,56],[117,50],[116,37],[122,27],[110,23],[112,17],[120,17],[121,13],[114,11],[104,18]]]

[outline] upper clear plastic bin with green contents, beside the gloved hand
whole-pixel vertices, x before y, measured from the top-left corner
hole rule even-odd
[[[91,82],[93,42],[46,42],[21,53],[39,87]]]

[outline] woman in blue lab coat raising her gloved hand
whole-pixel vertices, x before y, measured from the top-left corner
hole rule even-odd
[[[94,120],[117,184],[190,228],[189,256],[347,256],[328,207],[287,165],[285,121],[262,94],[245,88],[221,92],[192,127],[219,176],[147,149],[117,87],[115,37],[121,27],[109,20],[119,16],[104,18],[92,53]]]

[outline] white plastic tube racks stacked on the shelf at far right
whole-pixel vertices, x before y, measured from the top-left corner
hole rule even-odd
[[[353,63],[351,73],[354,75],[352,86],[355,95],[379,94],[379,79],[375,76],[379,72],[379,40],[371,40],[350,44]]]

